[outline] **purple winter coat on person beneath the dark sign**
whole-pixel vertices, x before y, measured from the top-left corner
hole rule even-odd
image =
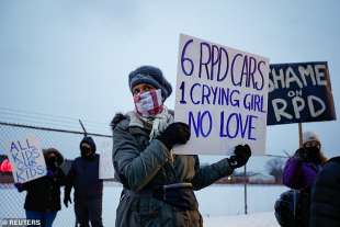
[[[295,190],[309,189],[315,182],[319,170],[320,166],[292,157],[287,160],[283,170],[283,184]]]

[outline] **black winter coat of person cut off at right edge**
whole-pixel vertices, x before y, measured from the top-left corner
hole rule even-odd
[[[311,190],[310,227],[340,226],[340,157],[322,168]]]

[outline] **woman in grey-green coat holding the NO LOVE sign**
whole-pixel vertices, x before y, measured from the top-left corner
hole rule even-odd
[[[193,190],[201,190],[247,163],[248,145],[235,155],[200,167],[199,157],[173,155],[177,144],[190,139],[190,128],[173,122],[163,102],[171,86],[160,69],[143,66],[129,73],[135,111],[112,121],[113,164],[124,189],[115,226],[202,226]]]

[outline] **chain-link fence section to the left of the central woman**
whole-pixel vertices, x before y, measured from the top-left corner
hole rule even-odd
[[[58,149],[65,159],[75,159],[80,156],[79,143],[83,137],[82,132],[63,130],[46,127],[35,127],[29,125],[0,123],[0,155],[5,155],[7,144],[13,139],[22,139],[26,136],[34,135],[41,143],[42,148],[54,147]],[[104,149],[112,148],[112,139],[109,135],[89,134],[97,144],[97,150],[100,152]],[[105,182],[105,188],[112,183]],[[106,189],[104,189],[106,190]],[[112,191],[112,189],[110,189]],[[115,186],[114,190],[121,190],[121,186]],[[61,190],[63,192],[64,190]],[[25,201],[25,191],[19,193],[13,185],[11,173],[1,173],[0,175],[0,219],[2,218],[24,218],[25,211],[23,208]],[[118,193],[114,193],[118,194]],[[61,193],[61,201],[63,201]],[[115,200],[111,208],[103,212],[104,224],[113,226],[115,216],[115,205],[118,201]],[[105,215],[105,217],[104,217]],[[54,226],[68,227],[75,226],[75,215],[72,205],[66,208],[61,205],[61,211],[57,214]]]

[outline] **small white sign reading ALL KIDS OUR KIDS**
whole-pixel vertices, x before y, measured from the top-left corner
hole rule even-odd
[[[7,154],[12,164],[14,181],[24,183],[46,175],[46,163],[38,139],[26,136],[7,144]]]

